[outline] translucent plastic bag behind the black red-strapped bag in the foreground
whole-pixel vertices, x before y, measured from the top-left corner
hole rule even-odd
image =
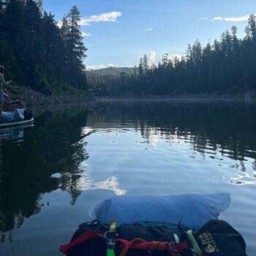
[[[91,217],[102,223],[115,219],[117,225],[137,221],[173,222],[199,228],[230,206],[230,195],[191,194],[169,196],[119,196],[97,204]]]

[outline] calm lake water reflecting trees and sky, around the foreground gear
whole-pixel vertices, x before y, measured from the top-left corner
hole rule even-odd
[[[0,255],[61,255],[114,195],[227,192],[221,214],[256,254],[256,105],[113,101],[0,130]]]

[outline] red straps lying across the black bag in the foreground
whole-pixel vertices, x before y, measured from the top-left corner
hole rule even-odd
[[[90,238],[93,238],[94,236],[99,236],[103,238],[103,235],[98,233],[97,231],[87,231],[82,235],[78,236],[78,238],[75,238],[75,240],[71,241],[69,244],[62,245],[60,248],[60,251],[66,255],[67,251],[70,248],[78,244],[82,244],[83,242],[89,240]],[[148,250],[148,249],[157,248],[158,250],[161,250],[161,251],[165,249],[166,250],[169,249],[169,244],[167,242],[157,242],[157,241],[148,242],[141,238],[135,238],[132,241],[127,241],[124,239],[116,239],[116,242],[122,244],[122,246],[124,246],[124,249],[127,247],[127,251],[128,249]],[[178,249],[179,251],[187,249],[187,242],[176,244],[176,249]],[[126,253],[124,255],[126,255]]]

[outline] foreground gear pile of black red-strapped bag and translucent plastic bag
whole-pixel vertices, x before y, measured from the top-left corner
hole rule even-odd
[[[97,220],[81,224],[71,242],[61,246],[60,251],[67,256],[246,256],[241,234],[218,219],[219,211],[229,205],[227,194],[113,197],[94,207]],[[120,215],[121,208],[124,217]],[[154,219],[157,212],[165,221]],[[108,222],[110,216],[113,219]],[[138,221],[138,217],[152,219]],[[184,225],[183,217],[187,224],[197,217],[194,228]],[[126,223],[126,218],[135,222]],[[177,218],[178,223],[171,221]],[[207,221],[198,227],[202,218]]]

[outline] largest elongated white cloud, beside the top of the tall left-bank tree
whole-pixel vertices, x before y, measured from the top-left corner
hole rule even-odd
[[[91,15],[89,17],[81,18],[80,26],[90,26],[91,23],[99,22],[116,22],[118,17],[121,17],[121,12],[105,12],[99,15]]]

